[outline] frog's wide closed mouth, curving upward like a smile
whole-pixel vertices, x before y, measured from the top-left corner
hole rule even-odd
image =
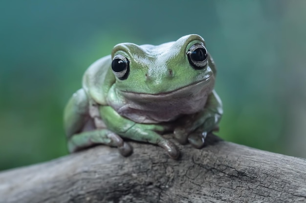
[[[180,87],[178,89],[175,89],[173,91],[169,91],[169,92],[160,92],[160,93],[156,93],[156,94],[150,94],[150,93],[139,93],[139,92],[126,92],[126,91],[120,91],[122,92],[122,94],[126,97],[126,98],[130,98],[130,99],[149,99],[149,98],[165,98],[165,97],[169,97],[169,98],[175,98],[177,96],[181,97],[181,96],[189,96],[193,93],[196,92],[200,92],[203,89],[210,88],[209,84],[213,85],[213,81],[211,80],[211,76],[205,77],[204,79],[197,81],[195,83],[192,83],[190,85],[187,86],[183,86]]]

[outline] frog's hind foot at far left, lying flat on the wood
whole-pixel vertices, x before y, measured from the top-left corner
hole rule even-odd
[[[108,129],[96,129],[75,134],[68,141],[68,148],[70,152],[74,152],[97,144],[117,147],[123,156],[128,156],[132,152],[128,143]]]

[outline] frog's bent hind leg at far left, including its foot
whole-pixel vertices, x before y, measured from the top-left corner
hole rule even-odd
[[[131,147],[122,138],[94,122],[97,117],[90,116],[90,108],[86,92],[80,89],[70,98],[64,112],[64,124],[70,152],[87,148],[96,144],[105,144],[119,148],[119,152],[127,156]],[[99,113],[99,111],[98,111]]]

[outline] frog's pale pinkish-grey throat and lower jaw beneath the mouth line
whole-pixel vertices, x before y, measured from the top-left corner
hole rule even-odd
[[[174,91],[158,94],[122,92],[117,89],[116,93],[109,96],[109,105],[120,115],[137,123],[173,121],[182,114],[201,111],[214,89],[214,83],[215,77],[211,76]]]

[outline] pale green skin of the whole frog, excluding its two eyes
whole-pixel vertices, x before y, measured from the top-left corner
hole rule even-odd
[[[181,144],[202,147],[206,133],[218,126],[222,105],[213,90],[211,56],[200,70],[189,62],[187,52],[194,44],[205,46],[198,35],[158,46],[122,43],[93,63],[65,109],[69,150],[105,144],[127,156],[132,149],[122,138],[129,138],[157,144],[177,158],[179,151],[163,138],[165,132],[173,132]],[[117,55],[129,60],[124,79],[112,71]]]

